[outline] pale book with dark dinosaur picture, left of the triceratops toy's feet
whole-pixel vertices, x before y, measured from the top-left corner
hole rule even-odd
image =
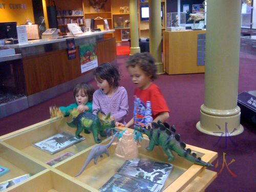
[[[33,146],[53,155],[73,144],[81,142],[82,140],[84,140],[83,137],[77,139],[73,133],[62,132],[40,142],[37,142],[33,144]]]

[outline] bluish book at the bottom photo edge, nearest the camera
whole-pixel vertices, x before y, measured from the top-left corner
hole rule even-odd
[[[116,173],[113,177],[106,182],[99,191],[104,192],[130,192],[130,191],[156,191],[159,192],[163,188],[163,185],[154,183],[147,179],[140,179],[129,175]]]

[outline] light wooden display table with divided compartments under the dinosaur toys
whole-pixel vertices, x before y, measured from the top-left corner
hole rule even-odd
[[[111,145],[109,147],[110,157],[104,154],[103,158],[98,159],[96,165],[91,161],[81,175],[74,177],[80,171],[91,149],[98,145],[94,142],[92,134],[82,133],[85,140],[53,155],[33,146],[34,143],[62,132],[75,134],[76,129],[69,127],[67,121],[70,121],[69,117],[55,117],[0,137],[0,164],[10,169],[8,173],[0,177],[0,183],[30,174],[28,179],[4,191],[98,191],[118,172],[125,160],[118,159],[114,155],[117,145]],[[124,127],[119,127],[119,129],[124,129]],[[133,132],[131,129],[128,130]],[[111,137],[102,138],[101,144],[109,143],[110,140]],[[216,172],[193,164],[175,153],[175,160],[167,161],[167,157],[159,146],[156,146],[153,152],[148,152],[145,149],[148,145],[146,136],[140,144],[139,159],[173,165],[172,172],[164,183],[163,191],[201,191],[216,178],[214,177]],[[206,162],[212,162],[218,156],[216,152],[203,148],[188,144],[187,147]],[[68,152],[74,155],[53,166],[46,163]]]

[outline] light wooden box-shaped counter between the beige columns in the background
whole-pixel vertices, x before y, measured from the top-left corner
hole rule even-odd
[[[198,65],[198,34],[204,33],[206,30],[163,31],[163,60],[167,74],[204,73],[204,65]]]

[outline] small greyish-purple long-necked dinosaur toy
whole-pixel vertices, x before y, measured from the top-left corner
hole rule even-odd
[[[94,159],[94,164],[97,164],[98,158],[103,157],[103,154],[105,153],[108,157],[110,156],[108,148],[113,143],[115,137],[118,135],[119,132],[117,132],[114,137],[111,139],[111,141],[108,144],[100,144],[92,148],[90,154],[88,155],[88,158],[86,162],[84,163],[83,167],[81,168],[80,172],[75,176],[78,177],[82,174],[84,169],[86,169],[87,165],[90,163],[92,159]]]

